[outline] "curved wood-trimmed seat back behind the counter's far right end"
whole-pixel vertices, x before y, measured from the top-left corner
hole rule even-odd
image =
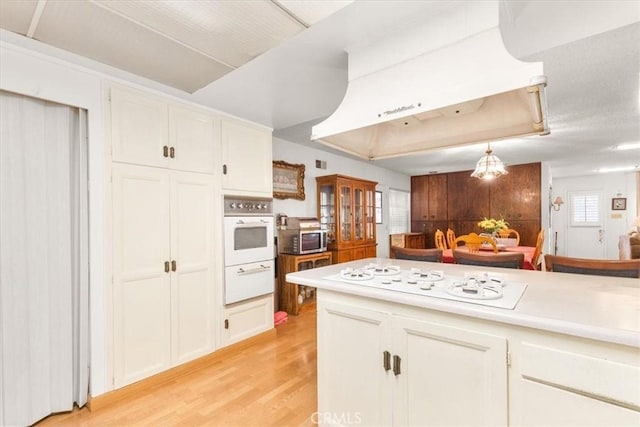
[[[640,259],[609,260],[545,255],[544,264],[547,271],[559,273],[640,278]]]

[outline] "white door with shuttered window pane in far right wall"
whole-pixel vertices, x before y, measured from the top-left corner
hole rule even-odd
[[[568,192],[567,256],[606,258],[604,198],[599,190]]]

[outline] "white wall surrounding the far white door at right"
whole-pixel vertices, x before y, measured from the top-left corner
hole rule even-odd
[[[638,216],[638,212],[636,212],[638,189],[636,188],[634,172],[554,178],[551,197],[560,196],[565,201],[565,204],[562,205],[559,211],[551,212],[552,232],[549,236],[551,250],[548,253],[553,253],[553,233],[557,232],[557,254],[572,256],[566,239],[569,223],[568,193],[582,190],[602,191],[606,207],[604,215],[605,257],[607,259],[617,259],[618,237],[631,229],[633,220]],[[624,211],[611,210],[611,199],[613,197],[626,197],[627,209]]]

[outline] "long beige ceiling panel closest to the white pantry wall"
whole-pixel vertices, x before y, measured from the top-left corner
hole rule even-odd
[[[34,38],[190,93],[232,70],[89,2],[47,2]]]

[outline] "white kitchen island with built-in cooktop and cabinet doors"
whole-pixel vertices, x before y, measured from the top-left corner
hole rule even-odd
[[[317,288],[321,424],[640,425],[638,279],[371,258],[287,281]]]

